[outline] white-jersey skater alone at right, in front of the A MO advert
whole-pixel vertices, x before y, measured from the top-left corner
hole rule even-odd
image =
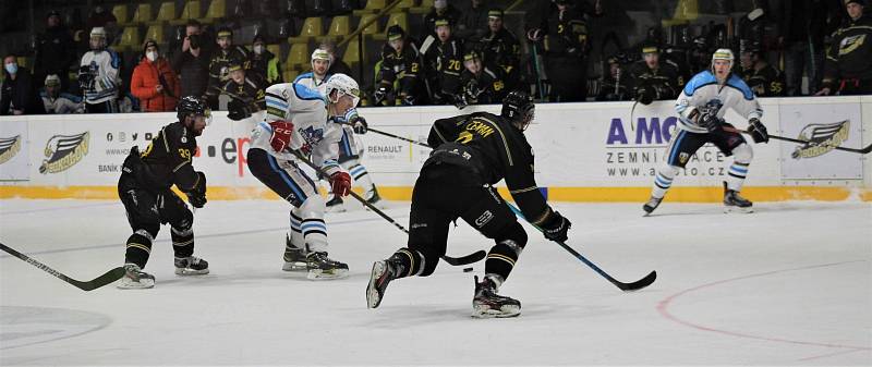
[[[748,119],[748,131],[754,143],[767,143],[768,134],[760,122],[763,110],[754,93],[730,72],[734,60],[732,51],[718,49],[712,54],[711,70],[694,75],[678,96],[675,109],[679,115],[679,130],[666,148],[667,158],[657,170],[651,199],[642,207],[645,215],[657,208],[679,169],[685,168],[705,143],[714,144],[728,157],[734,156],[724,182],[725,210],[752,211],[752,203],[739,196],[739,192],[748,175],[753,150],[741,133],[724,121],[727,108]]]

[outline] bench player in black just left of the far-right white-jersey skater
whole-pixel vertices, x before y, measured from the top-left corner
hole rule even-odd
[[[650,42],[642,46],[642,60],[630,65],[630,89],[642,105],[678,97],[678,69],[661,62],[659,48]]]

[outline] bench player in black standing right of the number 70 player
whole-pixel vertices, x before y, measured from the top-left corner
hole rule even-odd
[[[502,9],[492,8],[487,12],[487,35],[482,38],[485,65],[501,69],[506,89],[514,90],[521,82],[521,44],[502,24]]]

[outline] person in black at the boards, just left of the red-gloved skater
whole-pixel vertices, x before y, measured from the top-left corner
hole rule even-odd
[[[267,85],[264,81],[254,73],[246,76],[245,69],[239,62],[231,62],[227,70],[229,79],[221,93],[230,96],[230,102],[227,103],[228,119],[239,121],[266,110]]]

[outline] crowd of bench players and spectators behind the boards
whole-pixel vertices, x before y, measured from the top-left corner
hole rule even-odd
[[[761,97],[872,94],[872,16],[864,10],[863,0],[760,0],[725,24],[654,26],[638,45],[621,45],[614,33],[592,39],[597,19],[609,16],[601,0],[536,1],[523,24],[511,25],[485,0],[435,0],[420,29],[387,27],[380,58],[364,68],[373,81],[365,100],[462,109],[528,89],[554,102],[650,103],[676,98],[718,48],[734,50],[734,73]],[[16,54],[3,58],[0,114],[173,111],[182,96],[196,96],[242,119],[265,108],[266,87],[292,82],[282,79],[263,35],[234,45],[230,26],[191,20],[168,49],[147,39],[126,64],[111,46],[117,20],[107,9],[96,7],[77,28],[50,11],[33,70]],[[328,74],[351,73],[335,44],[317,50],[329,54]]]

